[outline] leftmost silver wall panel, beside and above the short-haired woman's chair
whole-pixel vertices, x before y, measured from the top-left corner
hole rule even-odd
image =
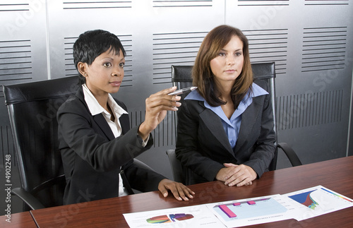
[[[11,188],[15,188],[20,182],[2,85],[49,78],[45,1],[3,0],[0,21],[0,184],[5,186],[5,155],[11,155]],[[0,198],[0,215],[4,215],[6,191],[0,192]],[[12,197],[11,212],[21,209],[20,200]]]

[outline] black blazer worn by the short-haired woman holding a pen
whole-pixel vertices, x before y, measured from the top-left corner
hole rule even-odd
[[[116,102],[126,110],[122,102]],[[104,116],[90,114],[82,87],[61,105],[57,119],[66,176],[64,204],[119,196],[119,173],[129,193],[131,188],[155,191],[165,179],[133,164],[134,157],[151,147],[152,136],[143,148],[138,126],[130,129],[128,114],[123,114],[120,117],[122,134],[114,138]]]

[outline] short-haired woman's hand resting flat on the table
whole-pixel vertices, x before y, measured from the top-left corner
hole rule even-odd
[[[177,200],[188,201],[189,198],[193,198],[193,195],[195,195],[195,193],[191,191],[190,188],[184,186],[184,184],[169,179],[162,179],[160,184],[158,184],[158,190],[160,190],[164,198],[168,196],[168,190],[171,191]]]

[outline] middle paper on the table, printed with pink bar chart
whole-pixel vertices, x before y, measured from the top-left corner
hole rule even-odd
[[[226,227],[242,227],[292,219],[291,213],[296,208],[287,201],[288,198],[273,195],[210,203],[207,206]]]

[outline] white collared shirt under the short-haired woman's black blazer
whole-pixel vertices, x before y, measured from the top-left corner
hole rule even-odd
[[[85,97],[85,102],[88,106],[88,109],[90,110],[90,114],[92,116],[95,116],[97,114],[102,114],[104,116],[104,119],[107,121],[109,127],[112,129],[112,132],[114,134],[114,137],[119,137],[121,136],[121,125],[119,118],[122,114],[128,114],[128,112],[125,111],[122,107],[119,106],[119,104],[116,104],[114,98],[112,95],[109,94],[108,97],[108,105],[112,109],[112,112],[115,116],[114,122],[110,120],[111,114],[105,110],[100,103],[98,103],[97,99],[95,99],[95,96],[92,95],[92,92],[88,89],[86,84],[82,85],[83,88],[83,95]],[[121,175],[119,174],[119,196],[127,196],[128,192],[124,188],[123,181],[121,179]]]

